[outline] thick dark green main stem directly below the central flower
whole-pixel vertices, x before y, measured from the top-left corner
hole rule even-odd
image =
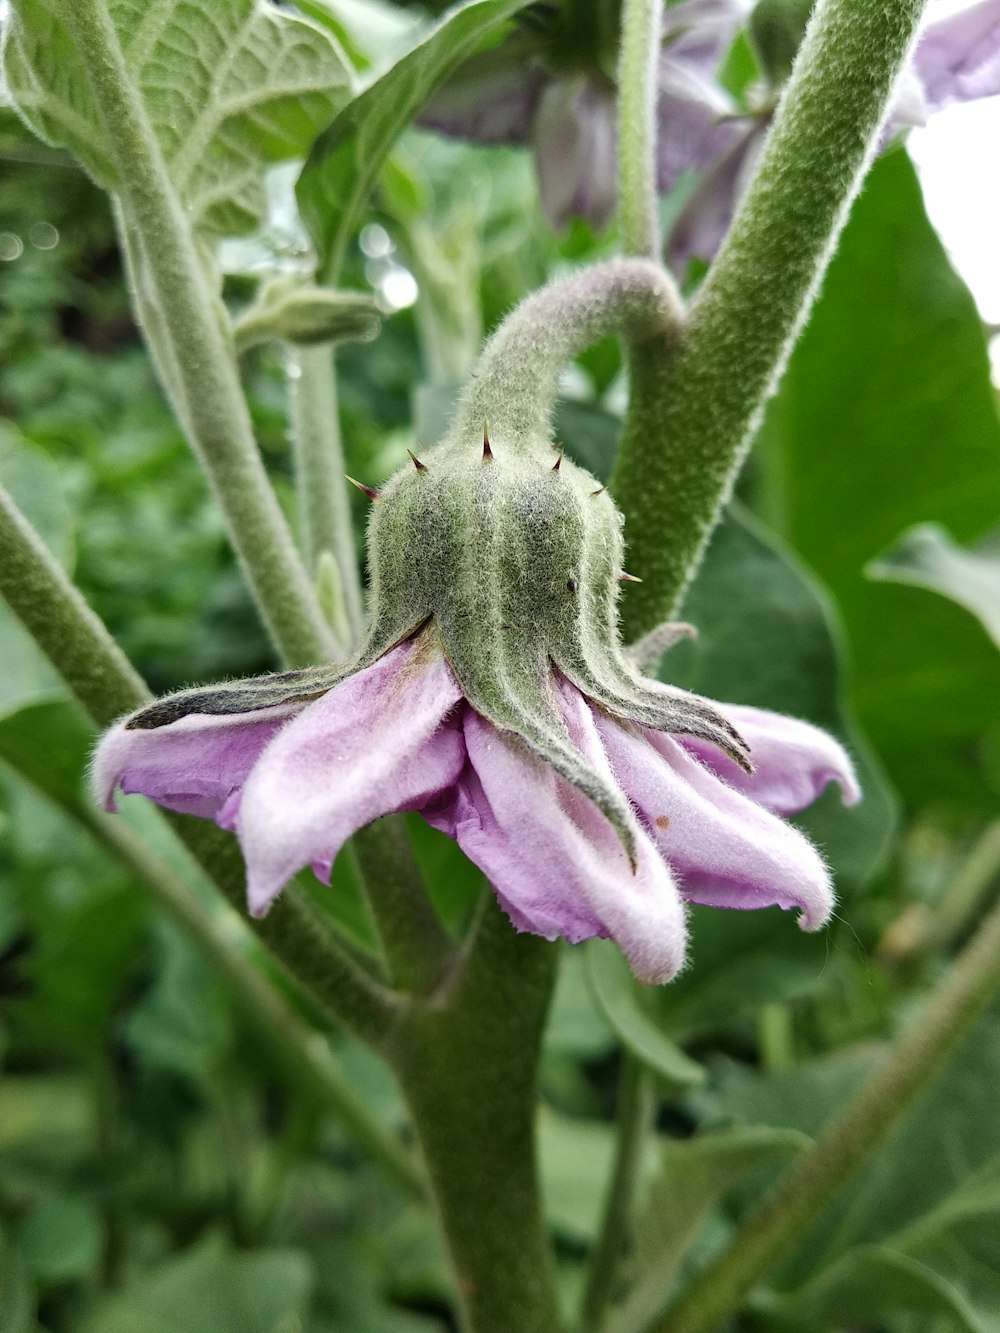
[[[387,1048],[455,1269],[465,1333],[557,1333],[535,1164],[535,1076],[556,950],[491,900],[453,985]]]

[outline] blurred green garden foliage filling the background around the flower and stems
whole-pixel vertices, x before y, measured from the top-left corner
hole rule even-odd
[[[479,32],[473,11],[496,19],[515,8],[469,7],[467,45]],[[364,60],[364,29],[339,32]],[[455,63],[464,51],[431,56]],[[339,140],[337,171],[364,156],[375,193],[365,201],[359,187],[349,207],[325,215],[348,285],[384,289],[389,265],[417,276],[417,304],[340,356],[348,471],[372,484],[407,445],[432,441],[483,329],[545,275],[615,245],[581,221],[553,239],[523,151],[420,131],[393,148],[393,116],[419,107],[431,56],[412,59],[393,85],[397,103],[383,99],[384,123],[341,112],[356,120],[355,137]],[[309,124],[292,127],[303,152],[343,96],[307,99]],[[23,241],[0,264],[0,479],[155,689],[272,666],[132,323],[105,196],[7,112],[0,133],[0,231]],[[265,137],[260,123],[245,135]],[[105,172],[103,159],[91,165]],[[241,199],[239,225],[204,216],[232,232],[259,211],[259,199]],[[359,247],[363,223],[384,228],[380,260]],[[257,259],[283,260],[273,231],[251,244]],[[227,301],[245,305],[255,283],[229,273]],[[247,355],[244,383],[291,513],[277,344]],[[619,349],[600,344],[567,373],[559,429],[601,476],[621,403]],[[897,148],[855,208],[691,591],[684,615],[700,636],[663,664],[667,678],[812,718],[852,748],[864,805],[844,812],[828,796],[804,816],[836,872],[839,917],[807,937],[776,913],[697,909],[691,966],[644,994],[599,944],[564,950],[541,1149],[567,1300],[599,1226],[623,1049],[653,1072],[659,1094],[641,1164],[639,1284],[625,1309],[635,1320],[659,1308],[679,1256],[683,1269],[720,1248],[900,1029],[996,889],[996,548],[953,545],[975,548],[1000,521],[996,407],[973,303]],[[940,528],[928,536],[925,524]],[[109,842],[81,790],[87,724],[4,608],[0,644],[0,1328],[452,1328],[428,1213],[289,1076],[227,978]],[[124,818],[176,858],[148,812]],[[479,874],[411,822],[439,906],[457,922]],[[333,892],[315,898],[365,937],[347,857]],[[240,946],[256,965],[252,945]],[[371,1113],[399,1128],[388,1076],[348,1038],[332,1040]],[[755,1293],[740,1326],[1000,1328],[997,1098],[991,1014],[871,1170]]]

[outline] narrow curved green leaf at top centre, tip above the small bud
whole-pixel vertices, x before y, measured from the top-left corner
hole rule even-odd
[[[525,4],[467,0],[456,5],[316,140],[297,193],[324,281],[336,281],[360,209],[400,133],[452,69]]]

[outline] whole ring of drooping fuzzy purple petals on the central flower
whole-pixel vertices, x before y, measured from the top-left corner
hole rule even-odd
[[[627,840],[579,781],[472,706],[433,623],[349,673],[161,700],[107,733],[93,784],[109,810],[120,788],[235,829],[257,916],[304,866],[328,880],[356,829],[417,810],[483,869],[519,930],[609,936],[647,982],[684,962],[685,901],[776,904],[820,928],[833,905],[827,868],[780,816],[829,781],[859,798],[841,746],[807,722],[644,685],[696,734],[613,716],[555,668],[548,680],[571,753],[621,798]]]

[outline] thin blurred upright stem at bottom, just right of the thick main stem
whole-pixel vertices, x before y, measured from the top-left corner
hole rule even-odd
[[[625,1052],[619,1082],[619,1136],[611,1188],[604,1206],[597,1245],[584,1290],[580,1328],[583,1333],[600,1333],[615,1296],[615,1278],[632,1218],[643,1146],[656,1109],[652,1081],[635,1056]]]

